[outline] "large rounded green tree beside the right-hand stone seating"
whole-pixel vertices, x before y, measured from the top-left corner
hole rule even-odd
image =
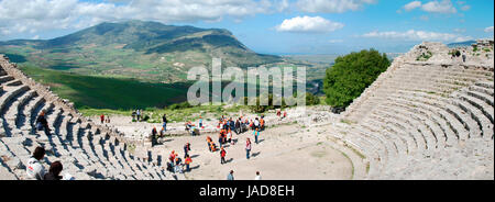
[[[388,66],[391,61],[387,56],[375,49],[338,57],[333,67],[326,71],[323,91],[327,103],[334,108],[348,106]]]

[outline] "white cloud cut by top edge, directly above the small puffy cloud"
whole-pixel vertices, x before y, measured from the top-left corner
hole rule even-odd
[[[296,7],[310,13],[343,13],[360,10],[364,4],[375,2],[376,0],[298,0]]]

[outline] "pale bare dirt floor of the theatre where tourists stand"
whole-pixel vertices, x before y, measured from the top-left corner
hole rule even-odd
[[[132,123],[127,116],[113,116],[112,125],[127,135],[160,126],[160,124]],[[182,125],[169,124],[168,128],[179,130]],[[215,122],[207,122],[205,125],[215,127]],[[224,146],[228,161],[224,165],[220,164],[220,153],[211,153],[207,147],[207,136],[211,136],[218,146],[217,133],[165,137],[151,150],[161,156],[161,166],[165,168],[170,152],[175,150],[184,160],[184,145],[190,143],[191,171],[185,172],[185,176],[191,180],[224,180],[230,170],[234,170],[237,180],[252,180],[256,171],[261,172],[264,180],[352,179],[353,165],[345,155],[332,147],[332,142],[328,139],[328,127],[330,126],[308,127],[296,123],[276,125],[261,133],[258,144],[254,143],[252,131],[239,135],[234,133],[237,144]],[[246,159],[245,154],[248,137],[253,143],[250,159]],[[144,150],[148,149],[138,147],[136,155],[144,154]]]

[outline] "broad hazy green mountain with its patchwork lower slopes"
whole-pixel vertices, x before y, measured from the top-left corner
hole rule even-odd
[[[283,60],[254,53],[227,30],[142,21],[101,23],[53,40],[0,42],[0,53],[41,68],[167,83],[185,81],[191,67],[210,68],[212,57],[239,67]]]

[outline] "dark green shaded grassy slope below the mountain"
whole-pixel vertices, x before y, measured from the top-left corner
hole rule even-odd
[[[61,98],[69,99],[87,114],[101,113],[84,109],[131,110],[158,106],[186,100],[186,83],[151,83],[132,79],[82,76],[22,65],[23,72],[37,82],[51,86]],[[103,110],[105,112],[105,110]]]

